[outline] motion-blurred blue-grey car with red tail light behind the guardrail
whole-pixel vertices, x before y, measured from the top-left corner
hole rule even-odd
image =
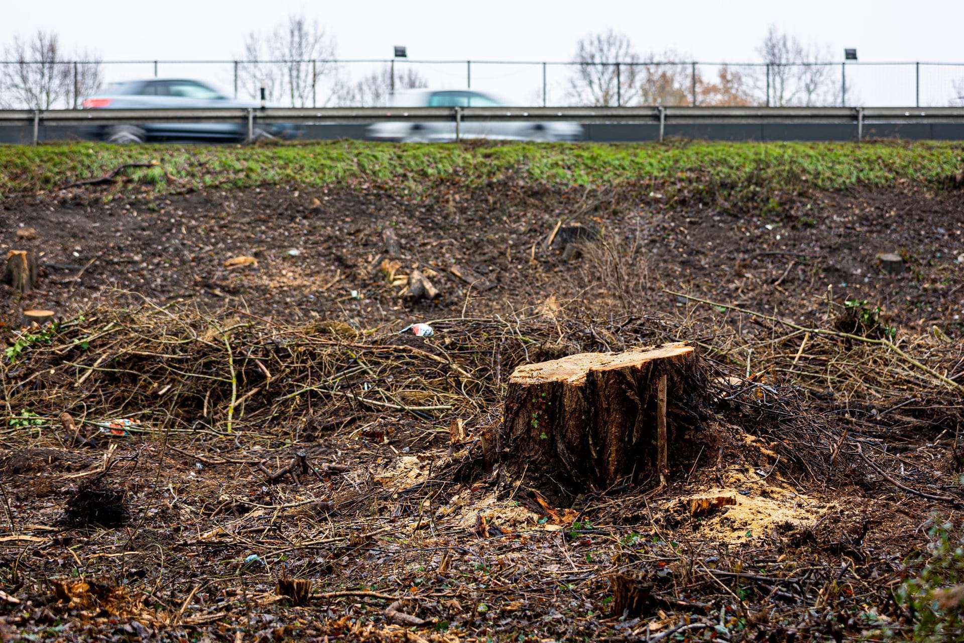
[[[235,100],[210,85],[188,78],[148,78],[112,83],[103,94],[91,96],[84,109],[203,109],[259,108],[260,103]],[[86,134],[110,143],[153,141],[242,141],[247,123],[158,122],[144,125],[99,125]],[[294,138],[298,128],[290,123],[257,125],[255,138]]]

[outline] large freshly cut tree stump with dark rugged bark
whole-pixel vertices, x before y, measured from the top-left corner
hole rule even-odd
[[[524,364],[509,378],[499,459],[557,494],[665,481],[667,449],[699,418],[706,382],[685,343]]]

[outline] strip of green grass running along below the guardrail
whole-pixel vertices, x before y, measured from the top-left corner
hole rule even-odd
[[[508,177],[552,185],[604,186],[653,181],[714,194],[800,191],[907,180],[943,185],[961,167],[959,143],[665,143],[393,145],[335,141],[263,147],[140,146],[72,143],[0,146],[0,194],[52,190],[133,169],[127,186],[158,192],[203,186],[249,187],[389,183],[414,190],[440,182],[478,185]]]

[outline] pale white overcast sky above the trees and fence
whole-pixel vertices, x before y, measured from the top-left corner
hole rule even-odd
[[[105,61],[229,60],[240,55],[246,34],[268,29],[289,13],[317,18],[335,35],[341,58],[388,58],[392,45],[404,44],[413,59],[567,61],[576,40],[614,27],[643,54],[672,48],[698,61],[746,62],[754,60],[754,49],[772,23],[801,40],[828,45],[840,58],[844,47],[856,47],[862,62],[964,64],[964,0],[0,0],[0,42],[40,28],[56,31],[67,48],[96,50]],[[116,80],[152,73],[152,66],[109,67],[107,75]],[[169,66],[160,73],[230,84],[226,69]],[[436,84],[465,85],[464,66],[426,73]],[[558,74],[550,85],[561,83]],[[865,104],[913,99],[912,67],[869,67],[853,74],[848,84]],[[964,66],[926,69],[922,76],[923,94],[931,85],[943,91],[951,77],[964,77]],[[473,67],[472,81],[473,87],[531,99],[541,86],[541,69]],[[888,86],[886,92],[879,89]]]

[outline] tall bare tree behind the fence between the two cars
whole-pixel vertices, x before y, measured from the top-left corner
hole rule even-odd
[[[304,15],[291,14],[270,34],[249,34],[239,82],[254,99],[263,87],[269,101],[308,107],[316,103],[318,81],[335,72],[335,51],[335,38],[317,21],[309,24]]]

